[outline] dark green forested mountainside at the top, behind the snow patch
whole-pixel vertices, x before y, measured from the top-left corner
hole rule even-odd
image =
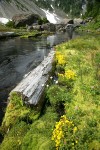
[[[38,6],[54,11],[63,10],[67,15],[79,17],[84,11],[86,0],[33,0]]]

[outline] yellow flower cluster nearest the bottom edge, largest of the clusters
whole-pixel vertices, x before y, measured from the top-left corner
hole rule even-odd
[[[61,140],[64,138],[63,127],[73,126],[73,123],[69,121],[65,115],[63,115],[59,122],[56,122],[55,129],[53,131],[52,140],[56,143],[56,150],[58,150]]]

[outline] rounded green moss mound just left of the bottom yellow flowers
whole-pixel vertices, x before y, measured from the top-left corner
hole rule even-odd
[[[23,139],[22,150],[53,150],[51,135],[56,120],[57,114],[48,107],[45,114],[31,125]]]

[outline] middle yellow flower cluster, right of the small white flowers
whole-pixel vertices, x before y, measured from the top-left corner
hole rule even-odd
[[[72,79],[72,80],[74,80],[75,76],[76,76],[75,72],[70,70],[70,69],[66,70],[64,74],[58,73],[58,77],[62,77],[62,78],[65,78],[65,79]]]

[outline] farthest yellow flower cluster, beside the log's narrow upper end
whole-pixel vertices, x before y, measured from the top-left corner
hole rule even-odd
[[[61,52],[56,52],[56,60],[58,65],[66,64],[65,56]]]

